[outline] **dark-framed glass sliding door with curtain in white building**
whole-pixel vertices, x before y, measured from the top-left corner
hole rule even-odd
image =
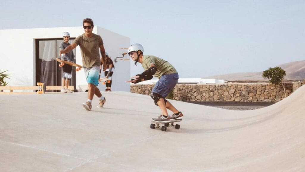
[[[70,39],[70,43],[74,39]],[[62,39],[37,39],[36,40],[36,83],[42,82],[47,86],[61,86],[63,76],[62,68],[55,58],[59,58],[59,43]],[[75,49],[74,55],[75,55]],[[60,59],[60,58],[59,58]],[[74,58],[75,63],[75,58]],[[72,67],[72,78],[69,85],[75,88],[75,67]],[[60,92],[60,90],[47,90],[47,92]]]

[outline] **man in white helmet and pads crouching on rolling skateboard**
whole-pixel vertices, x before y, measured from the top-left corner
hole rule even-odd
[[[137,65],[137,62],[141,63],[145,71],[135,77],[131,77],[132,79],[126,82],[136,84],[144,80],[151,80],[152,77],[159,78],[156,85],[152,88],[150,97],[160,107],[162,115],[152,118],[152,121],[170,122],[171,119],[182,119],[183,114],[165,99],[178,83],[179,75],[177,70],[169,62],[153,55],[143,55],[143,53],[144,48],[141,44],[136,43],[128,48],[128,55],[135,61],[135,65]],[[167,109],[174,114],[169,117]]]

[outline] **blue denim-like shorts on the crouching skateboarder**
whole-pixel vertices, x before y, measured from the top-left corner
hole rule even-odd
[[[166,97],[168,93],[176,86],[178,83],[179,75],[178,73],[165,74],[160,77],[160,80],[152,88],[152,92]]]

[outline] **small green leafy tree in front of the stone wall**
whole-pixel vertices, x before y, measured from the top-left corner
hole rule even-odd
[[[275,85],[280,85],[282,84],[285,97],[286,97],[286,90],[285,90],[285,81],[284,77],[286,75],[285,70],[283,70],[280,67],[275,67],[275,68],[269,68],[268,70],[265,70],[262,74],[262,76],[266,79],[268,78],[271,84]]]

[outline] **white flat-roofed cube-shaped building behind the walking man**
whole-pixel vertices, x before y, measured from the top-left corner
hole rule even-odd
[[[59,58],[59,43],[63,40],[62,33],[69,32],[70,43],[84,33],[82,27],[63,27],[63,28],[33,28],[33,29],[5,29],[0,30],[0,69],[8,70],[13,73],[9,86],[35,86],[37,82],[43,82],[46,85],[61,85],[62,69],[55,58]],[[130,46],[130,38],[111,32],[104,28],[94,26],[93,33],[102,37],[106,52],[113,60],[115,69],[113,73],[113,82],[111,89],[113,91],[130,92],[130,61],[125,56],[125,60],[116,57],[122,57],[122,53],[127,51]],[[121,48],[121,49],[120,49]],[[74,50],[75,61],[82,65],[80,47]],[[72,79],[70,85],[74,89],[84,91],[87,88],[87,82],[84,70],[75,71],[72,68]],[[101,73],[104,76],[104,73]],[[105,85],[99,84],[101,91]]]

